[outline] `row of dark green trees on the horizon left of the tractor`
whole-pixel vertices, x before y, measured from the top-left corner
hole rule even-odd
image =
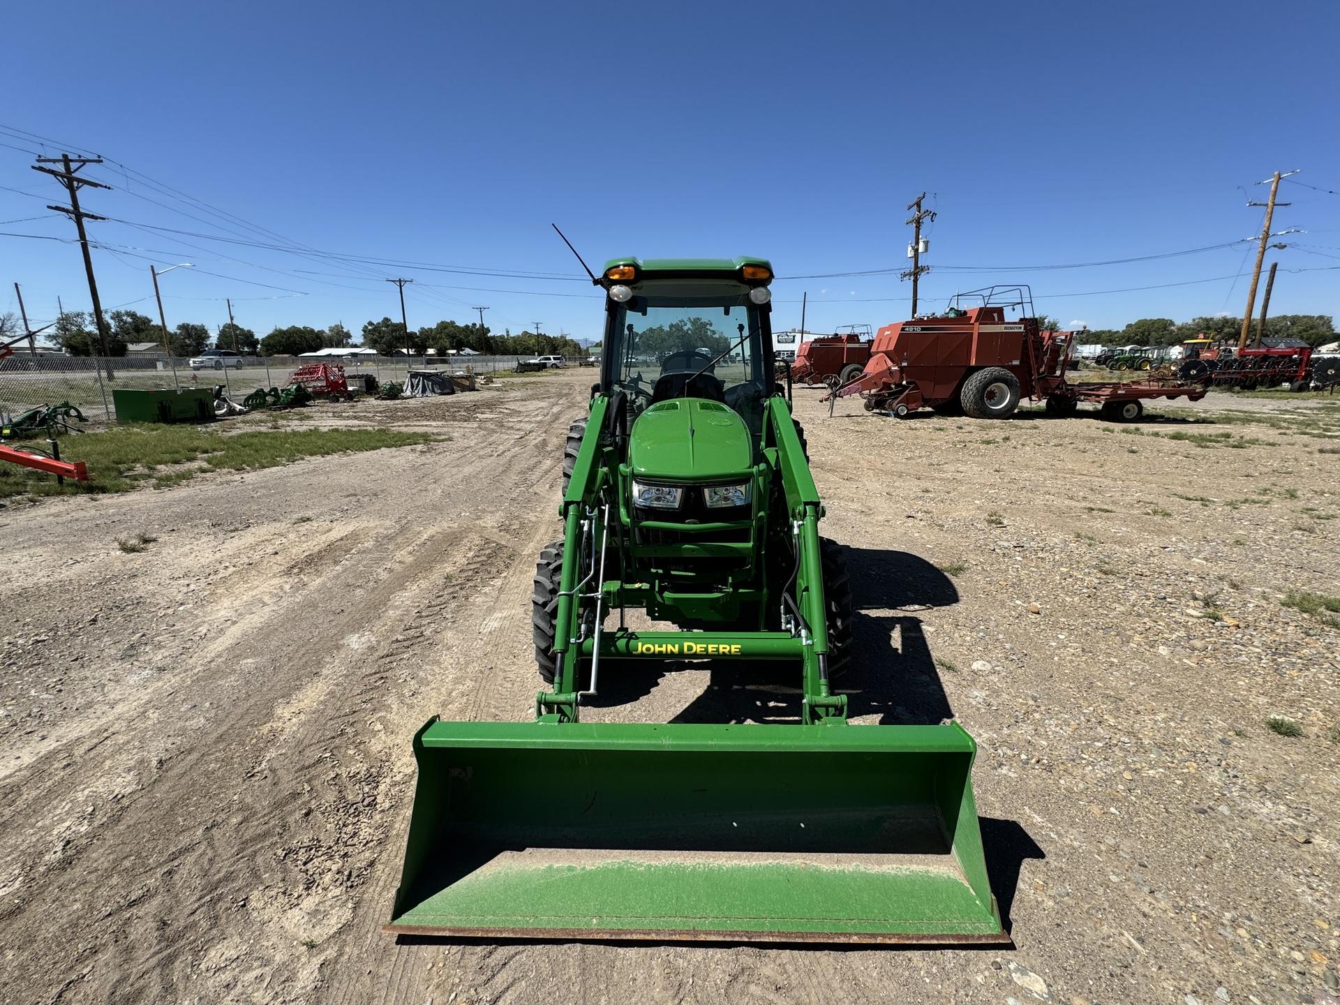
[[[126,355],[135,343],[153,342],[163,344],[162,326],[138,311],[111,311],[106,315],[107,351],[114,356]],[[446,352],[448,350],[470,348],[476,352],[493,355],[564,355],[575,356],[586,350],[565,336],[536,334],[532,331],[513,335],[511,330],[494,334],[486,324],[458,324],[438,322],[437,324],[410,331],[390,318],[367,322],[362,330],[363,346],[375,348],[382,355],[403,354],[406,344],[414,355],[427,350]],[[51,331],[51,340],[64,352],[74,356],[95,356],[102,354],[102,344],[94,330],[92,318],[86,311],[66,311]],[[226,348],[247,355],[263,356],[299,355],[315,352],[319,348],[343,348],[354,344],[352,332],[336,322],[326,328],[312,328],[303,324],[273,328],[268,335],[257,338],[251,328],[228,323],[210,335],[209,328],[194,322],[184,322],[168,334],[168,350],[173,356],[198,356],[206,348]]]

